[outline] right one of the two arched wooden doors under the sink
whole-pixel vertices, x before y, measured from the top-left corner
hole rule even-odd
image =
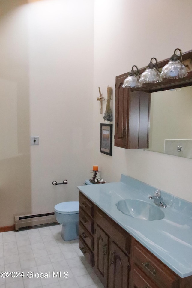
[[[129,286],[129,257],[116,245],[110,243],[109,255],[109,288],[128,288]]]

